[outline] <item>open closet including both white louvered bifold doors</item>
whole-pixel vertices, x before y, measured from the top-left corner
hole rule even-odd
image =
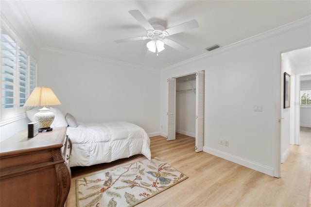
[[[197,71],[168,80],[167,140],[176,132],[195,138],[195,152],[203,151],[205,72]]]

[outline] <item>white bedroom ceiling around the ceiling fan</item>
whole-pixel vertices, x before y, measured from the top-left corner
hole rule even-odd
[[[311,15],[310,0],[26,0],[8,4],[15,11],[18,8],[20,23],[39,47],[94,55],[146,69],[163,69],[207,53],[204,49],[214,44],[223,47]],[[148,40],[115,43],[117,39],[146,35],[128,13],[136,9],[150,22],[158,20],[166,28],[196,19],[199,28],[170,36],[189,50],[179,52],[166,46],[156,56],[147,52]]]

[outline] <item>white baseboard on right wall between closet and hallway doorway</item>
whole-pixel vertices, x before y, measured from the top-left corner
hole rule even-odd
[[[244,167],[253,169],[253,170],[258,171],[260,173],[265,173],[265,174],[268,174],[270,176],[274,176],[274,174],[273,174],[274,169],[272,167],[265,166],[265,165],[253,162],[251,160],[247,160],[247,159],[244,159],[244,158],[239,157],[239,156],[231,155],[231,154],[228,154],[228,153],[225,153],[225,152],[222,152],[222,151],[210,148],[210,147],[203,147],[203,151],[206,153],[209,153],[211,155],[215,155],[215,156],[224,158],[226,160],[229,160],[231,162],[237,163],[237,164],[242,165]]]

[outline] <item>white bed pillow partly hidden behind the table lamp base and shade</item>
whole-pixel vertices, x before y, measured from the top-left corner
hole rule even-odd
[[[42,107],[35,107],[31,110],[26,111],[26,115],[30,121],[35,121],[35,114],[39,112],[40,108]],[[55,115],[55,118],[51,124],[51,127],[68,126],[67,121],[65,120],[65,116],[59,109],[53,108],[53,107],[50,107],[50,109],[51,109],[51,112],[53,112]]]

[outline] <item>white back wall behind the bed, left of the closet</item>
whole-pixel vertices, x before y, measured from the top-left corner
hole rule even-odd
[[[77,121],[129,121],[159,135],[159,72],[100,58],[41,50],[38,86],[52,88]]]

